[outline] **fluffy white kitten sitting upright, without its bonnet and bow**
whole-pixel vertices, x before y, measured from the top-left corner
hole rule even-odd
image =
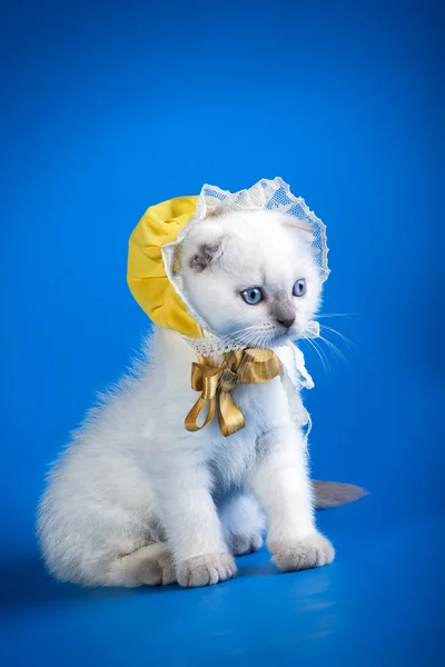
[[[291,376],[285,344],[305,336],[320,292],[307,232],[296,223],[265,210],[229,211],[191,229],[181,255],[191,305],[211,329],[240,347],[274,349]],[[39,536],[59,579],[222,581],[236,573],[234,555],[260,546],[263,512],[280,569],[333,560],[315,527],[305,438],[280,378],[235,387],[246,420],[235,435],[225,438],[216,419],[188,432],[195,360],[179,334],[155,327],[138,377],[90,412],[56,464]]]

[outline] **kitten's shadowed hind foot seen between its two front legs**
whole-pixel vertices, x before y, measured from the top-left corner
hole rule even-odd
[[[257,551],[263,545],[264,517],[257,501],[247,492],[234,494],[227,498],[220,517],[226,542],[234,556]]]

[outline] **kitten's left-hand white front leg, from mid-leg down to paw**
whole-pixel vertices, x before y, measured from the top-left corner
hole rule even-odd
[[[170,464],[171,479],[158,486],[158,501],[178,584],[208,586],[231,578],[236,566],[224,541],[207,467],[187,462]]]

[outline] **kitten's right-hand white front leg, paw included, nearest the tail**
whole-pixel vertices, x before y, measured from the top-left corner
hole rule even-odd
[[[261,438],[263,458],[253,479],[254,491],[266,512],[267,546],[283,570],[327,565],[334,548],[314,520],[303,436],[291,425]]]

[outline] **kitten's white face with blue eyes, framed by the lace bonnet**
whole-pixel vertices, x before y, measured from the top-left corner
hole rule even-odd
[[[210,331],[241,347],[307,335],[320,296],[310,236],[287,216],[233,211],[198,223],[182,243],[187,297]]]

